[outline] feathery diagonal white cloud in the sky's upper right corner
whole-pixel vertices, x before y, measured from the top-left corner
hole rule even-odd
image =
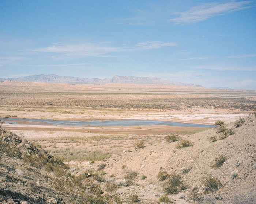
[[[170,19],[175,23],[196,23],[209,19],[213,16],[223,15],[225,13],[238,11],[241,9],[250,8],[249,4],[253,1],[233,1],[229,3],[206,3],[198,6],[191,7],[184,12],[175,12],[173,14],[179,17]]]

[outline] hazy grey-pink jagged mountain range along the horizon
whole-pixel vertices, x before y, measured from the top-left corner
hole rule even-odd
[[[40,74],[23,76],[19,78],[0,78],[0,81],[28,81],[28,82],[49,82],[49,83],[71,83],[71,84],[106,84],[106,83],[122,83],[122,84],[158,84],[158,85],[178,85],[178,86],[197,86],[192,83],[173,82],[162,80],[157,77],[138,77],[138,76],[113,76],[105,79],[84,79],[72,76],[57,76],[55,74]]]

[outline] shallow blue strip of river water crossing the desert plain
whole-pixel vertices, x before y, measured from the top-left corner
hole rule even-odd
[[[6,123],[29,124],[29,125],[57,125],[57,126],[142,126],[142,125],[168,125],[184,127],[215,127],[213,125],[200,125],[192,123],[151,121],[151,120],[92,120],[92,121],[67,121],[67,120],[43,120],[43,119],[20,119],[0,118]]]

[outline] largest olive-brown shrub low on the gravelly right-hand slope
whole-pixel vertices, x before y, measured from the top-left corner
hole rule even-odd
[[[180,187],[182,184],[183,184],[183,181],[181,180],[181,176],[176,172],[173,172],[170,175],[169,180],[163,184],[163,189],[167,193],[175,194],[178,191],[177,188]]]

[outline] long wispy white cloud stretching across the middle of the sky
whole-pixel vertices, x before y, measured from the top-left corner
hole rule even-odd
[[[54,44],[49,47],[34,49],[35,52],[62,53],[68,56],[111,56],[110,53],[131,52],[138,50],[158,49],[166,46],[177,46],[174,42],[146,41],[136,44],[136,46],[111,46],[108,42],[103,43],[83,43],[83,44]]]

